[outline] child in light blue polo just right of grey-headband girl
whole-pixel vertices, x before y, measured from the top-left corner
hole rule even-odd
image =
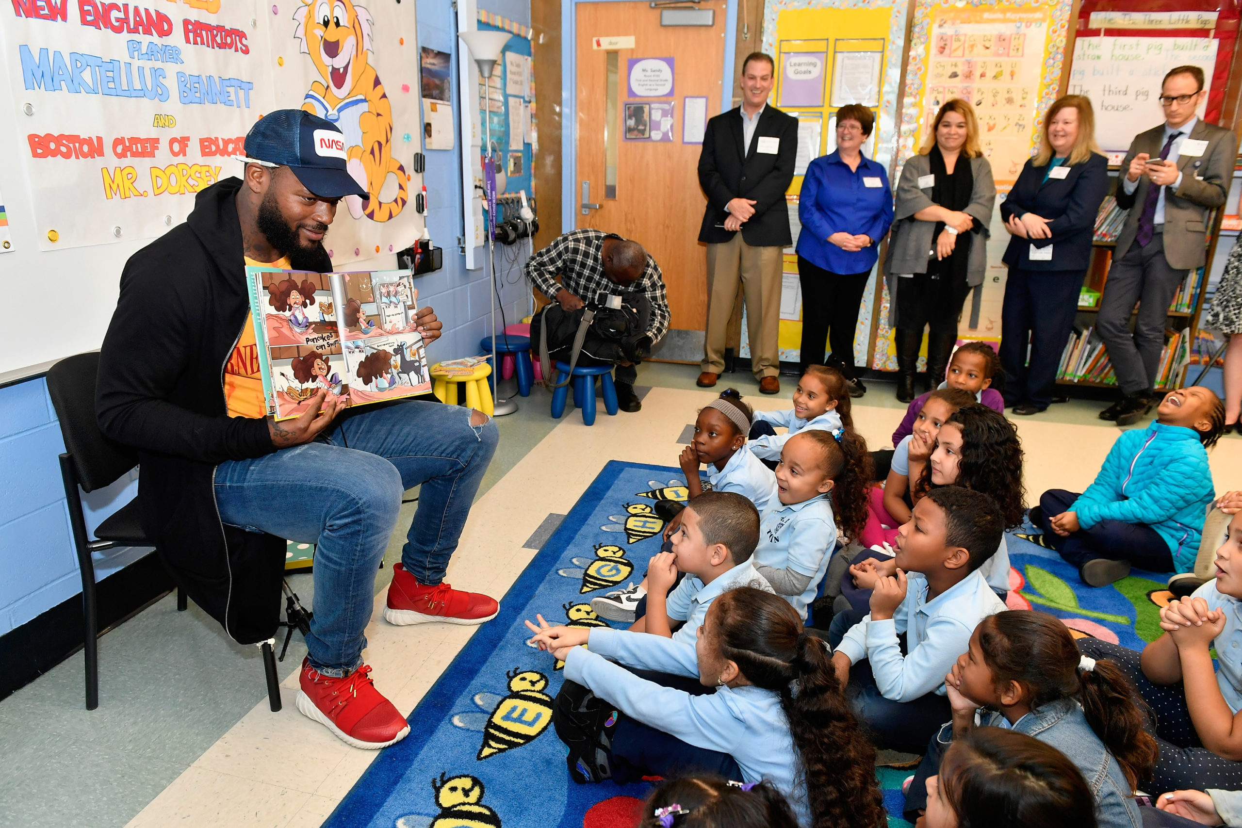
[[[830,432],[802,431],[789,438],[776,467],[779,500],[760,521],[751,562],[802,621],[837,545],[828,493],[843,464],[837,437]]]

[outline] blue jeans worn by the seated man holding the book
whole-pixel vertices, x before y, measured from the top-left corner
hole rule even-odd
[[[401,550],[420,583],[440,583],[457,549],[499,432],[471,426],[471,410],[410,400],[338,420],[303,446],[216,467],[226,524],[317,544],[310,665],[349,675],[363,663],[375,574],[401,509],[421,484]]]

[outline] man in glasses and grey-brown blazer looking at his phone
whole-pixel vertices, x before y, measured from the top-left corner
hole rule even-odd
[[[1225,204],[1233,176],[1233,133],[1195,114],[1206,94],[1201,68],[1171,70],[1160,87],[1165,123],[1135,135],[1122,161],[1117,206],[1130,212],[1097,320],[1122,389],[1122,398],[1099,416],[1118,426],[1138,422],[1155,402],[1169,303],[1186,274],[1206,261],[1207,211]]]

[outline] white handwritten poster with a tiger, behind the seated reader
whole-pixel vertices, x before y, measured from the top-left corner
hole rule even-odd
[[[21,134],[40,250],[166,232],[195,194],[241,175],[246,133],[277,108],[347,127],[350,173],[370,197],[343,200],[325,241],[334,261],[409,243],[422,227],[406,209],[422,132],[414,14],[374,0],[342,9],[337,26],[358,41],[347,60],[327,57],[335,35],[309,0],[0,6],[5,120]]]

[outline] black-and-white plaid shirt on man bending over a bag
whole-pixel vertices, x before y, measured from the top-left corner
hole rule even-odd
[[[527,276],[548,298],[555,298],[561,288],[578,295],[582,302],[595,302],[600,292],[615,293],[620,286],[610,282],[604,274],[601,256],[604,240],[611,235],[589,228],[564,233],[527,261]],[[620,236],[614,237],[620,238]],[[558,276],[561,278],[561,284],[556,284]],[[647,267],[643,268],[642,276],[625,289],[642,293],[651,302],[647,334],[653,341],[660,341],[668,333],[672,317],[668,313],[664,277],[656,259],[651,258],[651,253],[647,253]]]

